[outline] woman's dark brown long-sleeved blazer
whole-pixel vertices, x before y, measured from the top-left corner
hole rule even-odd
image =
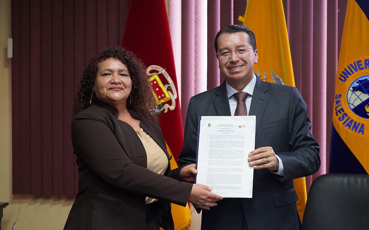
[[[185,206],[192,184],[181,182],[180,169],[171,171],[170,164],[164,175],[146,169],[141,140],[117,118],[118,110],[99,100],[73,118],[79,192],[64,230],[144,230],[146,196],[158,199],[164,229],[174,229],[170,203]],[[152,119],[152,127],[144,121],[140,125],[163,149],[169,163],[159,124]]]

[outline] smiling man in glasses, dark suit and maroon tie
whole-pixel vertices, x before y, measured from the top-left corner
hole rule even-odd
[[[258,50],[247,27],[230,25],[219,31],[215,52],[226,81],[190,99],[179,165],[196,162],[198,116],[247,112],[256,116],[256,149],[248,158],[255,169],[254,185],[252,198],[224,198],[203,210],[201,229],[299,229],[292,179],[309,176],[320,167],[306,103],[296,88],[256,77]],[[247,94],[239,93],[244,98],[238,98],[237,92]]]

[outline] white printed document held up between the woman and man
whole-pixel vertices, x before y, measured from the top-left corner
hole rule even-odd
[[[252,197],[255,116],[202,116],[197,129],[196,183],[222,197]]]

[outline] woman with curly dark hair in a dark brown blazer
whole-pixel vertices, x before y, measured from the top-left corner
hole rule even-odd
[[[73,102],[79,192],[65,230],[174,229],[170,203],[209,209],[222,199],[191,184],[194,165],[170,171],[143,63],[120,47],[96,54]],[[181,178],[187,182],[182,182]]]

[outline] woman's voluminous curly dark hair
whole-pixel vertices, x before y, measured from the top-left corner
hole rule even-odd
[[[148,121],[149,114],[155,111],[155,98],[145,72],[146,67],[134,53],[122,47],[108,47],[90,59],[83,72],[80,84],[77,86],[72,106],[72,116],[74,117],[78,112],[90,106],[91,95],[92,102],[96,100],[96,95],[92,89],[96,74],[100,63],[109,58],[118,59],[127,66],[132,80],[130,99],[133,103],[127,100],[126,106],[134,110],[142,120]]]

